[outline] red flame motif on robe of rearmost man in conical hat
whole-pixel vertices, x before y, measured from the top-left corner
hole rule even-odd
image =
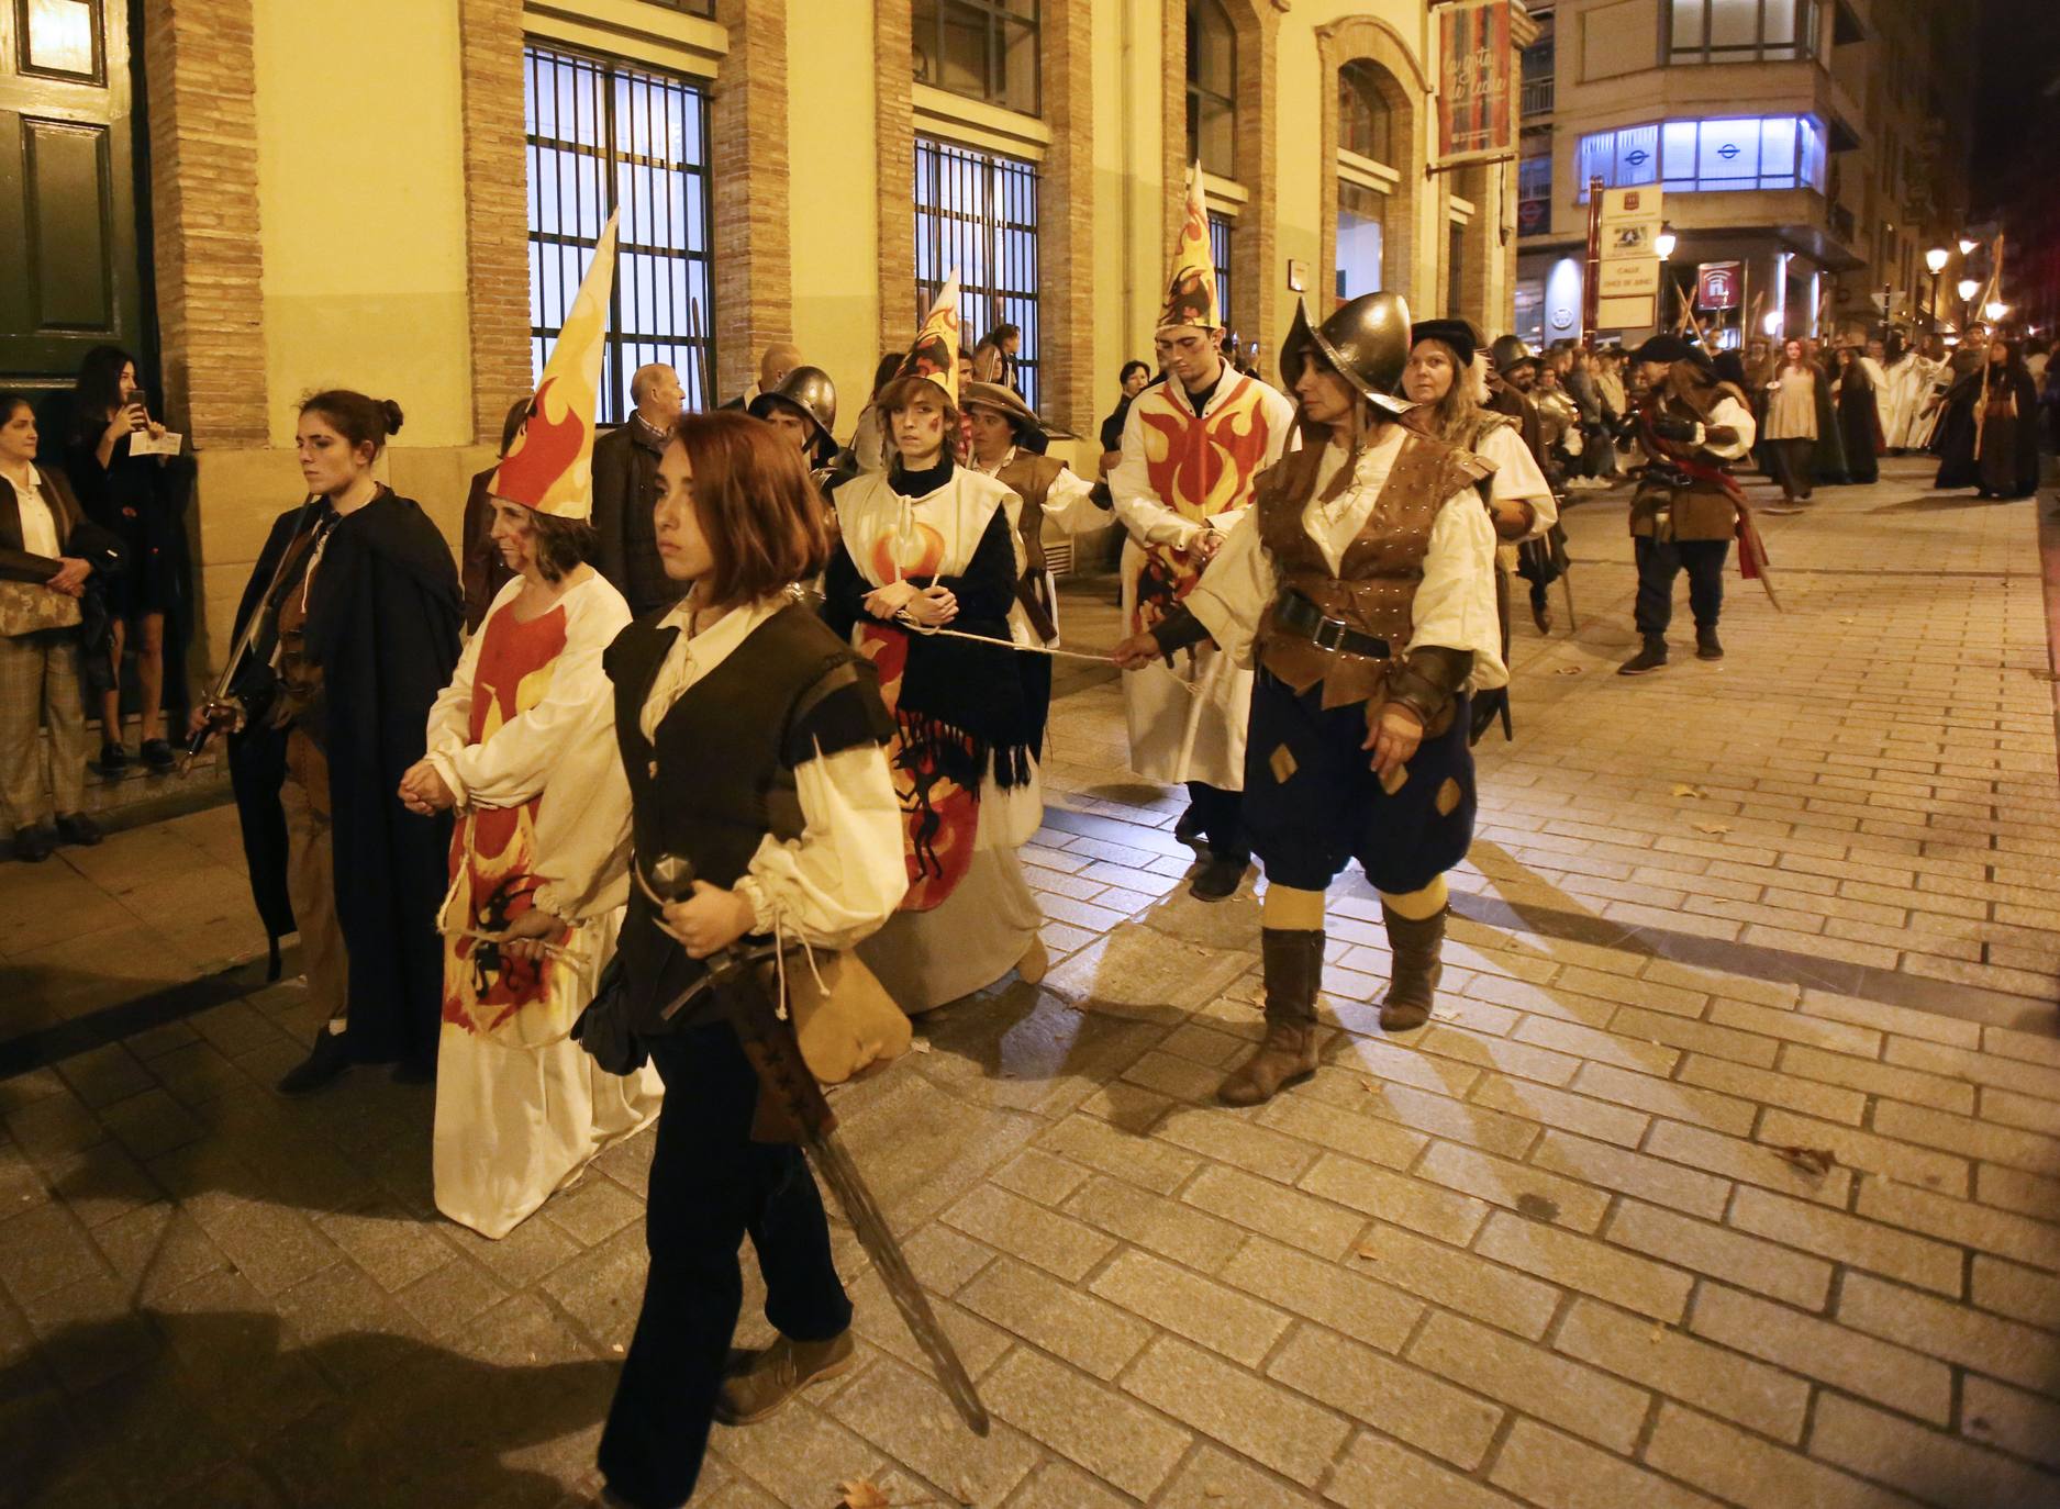
[[[1271,428],[1250,379],[1207,418],[1154,391],[1137,399],[1145,428],[1145,476],[1160,502],[1193,523],[1250,506],[1252,480],[1267,461]],[[1133,632],[1162,622],[1187,597],[1201,570],[1170,546],[1147,546],[1137,578]]]

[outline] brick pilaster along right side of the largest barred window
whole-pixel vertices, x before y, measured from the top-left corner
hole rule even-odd
[[[906,37],[908,0],[900,0]],[[709,99],[715,194],[715,385],[740,393],[758,354],[793,340],[787,171],[787,6],[717,0],[729,56]],[[908,62],[906,41],[900,49]],[[908,84],[902,80],[902,95]],[[911,231],[911,237],[915,233]]]

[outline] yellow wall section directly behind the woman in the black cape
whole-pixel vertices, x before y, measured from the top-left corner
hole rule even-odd
[[[457,8],[354,0],[350,25],[305,0],[255,0],[258,204],[270,449],[202,451],[206,634],[227,655],[266,531],[305,496],[299,401],[352,387],[402,406],[379,467],[457,539],[472,445]]]

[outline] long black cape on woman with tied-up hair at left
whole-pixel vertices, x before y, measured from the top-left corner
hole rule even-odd
[[[272,525],[239,626],[270,585],[297,519],[299,508]],[[420,504],[381,492],[334,527],[315,587],[305,642],[323,677],[317,733],[330,764],[336,918],[350,955],[350,1056],[431,1058],[443,1017],[435,918],[449,875],[451,819],[416,817],[396,791],[422,758],[428,708],[457,667],[457,566]],[[251,657],[260,677],[268,655],[260,646]],[[274,933],[290,918],[278,805],[284,747],[284,735],[270,729],[251,729],[231,747],[251,889]]]

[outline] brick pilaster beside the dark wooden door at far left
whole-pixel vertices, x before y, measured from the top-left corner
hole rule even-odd
[[[198,449],[258,447],[270,422],[251,0],[142,14],[165,412]]]

